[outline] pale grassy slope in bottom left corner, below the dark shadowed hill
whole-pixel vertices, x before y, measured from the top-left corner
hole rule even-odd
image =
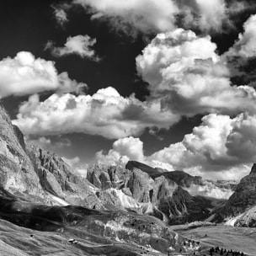
[[[69,239],[78,243],[68,243]],[[148,251],[148,252],[147,252]],[[164,255],[133,244],[118,243],[93,236],[76,228],[61,232],[40,232],[0,221],[0,255]]]

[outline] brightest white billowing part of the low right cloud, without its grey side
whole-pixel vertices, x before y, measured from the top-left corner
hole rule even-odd
[[[206,115],[202,119],[202,124],[195,127],[191,134],[185,135],[183,141],[155,152],[150,158],[169,163],[178,169],[195,166],[212,169],[229,165],[236,162],[236,159],[227,155],[225,146],[231,131],[232,119],[229,116]]]

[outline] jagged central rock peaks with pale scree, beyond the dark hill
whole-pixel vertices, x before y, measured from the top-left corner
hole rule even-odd
[[[108,209],[132,210],[169,224],[204,220],[210,215],[215,206],[211,199],[191,196],[179,185],[188,184],[185,179],[193,176],[179,172],[178,184],[175,173],[161,171],[138,162],[128,162],[126,168],[93,166],[88,169],[88,180],[99,189],[99,200]]]

